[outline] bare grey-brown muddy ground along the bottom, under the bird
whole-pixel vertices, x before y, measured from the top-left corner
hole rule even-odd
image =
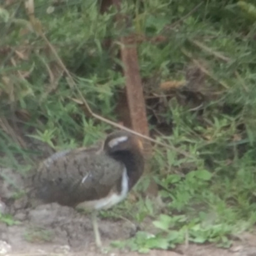
[[[1,173],[10,170],[1,170]],[[12,181],[21,186],[20,179],[13,175]],[[12,196],[12,189],[0,179],[0,198]],[[3,209],[5,205],[5,209]],[[0,202],[1,210],[1,202]],[[70,207],[58,204],[24,207],[24,202],[9,202],[2,205],[2,211],[10,212],[17,225],[0,222],[0,255],[102,255],[95,248],[90,214],[84,215]],[[13,223],[12,223],[13,224]],[[100,234],[104,246],[111,241],[127,239],[136,232],[134,225],[125,220],[99,220]],[[143,229],[143,225],[141,226]],[[244,233],[234,239],[228,250],[216,248],[212,244],[198,246],[188,244],[175,251],[152,250],[148,255],[163,256],[256,256],[256,232]],[[108,255],[139,255],[137,252],[111,249]]]

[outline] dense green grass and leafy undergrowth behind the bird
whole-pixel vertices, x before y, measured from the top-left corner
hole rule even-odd
[[[86,117],[76,88],[33,33],[22,1],[0,7],[1,165],[29,170],[40,156],[31,136],[54,150],[103,138],[113,128]],[[141,252],[184,241],[229,246],[256,222],[256,7],[147,0],[124,1],[122,12],[130,28],[118,28],[115,8],[100,14],[94,0],[35,1],[35,17],[77,87],[95,113],[111,120],[120,119],[116,106],[124,88],[118,39],[142,36],[138,56],[150,132],[192,156],[154,148],[161,207],[140,198],[132,220],[150,216],[158,231],[138,232],[124,243]],[[109,38],[115,43],[106,47]],[[146,186],[142,180],[138,190]],[[134,212],[134,204],[124,202],[116,212],[123,209]]]

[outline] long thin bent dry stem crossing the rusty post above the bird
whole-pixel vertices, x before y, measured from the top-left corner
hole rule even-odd
[[[76,88],[77,92],[79,93],[81,99],[83,100],[83,104],[84,106],[86,107],[86,109],[88,110],[88,113],[90,113],[91,116],[93,116],[94,118],[97,118],[99,120],[101,120],[102,122],[105,122],[107,124],[110,124],[114,127],[117,127],[119,129],[122,129],[124,131],[128,131],[128,132],[131,132],[132,134],[135,134],[137,136],[140,136],[141,138],[144,138],[145,140],[148,140],[148,141],[152,141],[158,145],[161,145],[163,147],[166,147],[166,148],[170,148],[172,150],[175,150],[176,152],[186,156],[186,157],[189,157],[189,158],[192,158],[192,159],[195,159],[194,156],[192,156],[191,154],[189,154],[188,152],[184,151],[184,150],[181,150],[180,148],[176,148],[172,145],[167,145],[166,143],[162,143],[162,142],[159,142],[157,140],[154,140],[148,136],[145,136],[143,134],[140,134],[139,132],[135,132],[135,131],[132,131],[131,129],[123,126],[123,125],[120,125],[120,124],[116,124],[115,122],[111,121],[111,120],[108,120],[107,118],[104,118],[100,115],[97,115],[95,113],[93,113],[92,109],[90,108],[90,106],[88,105],[86,99],[84,99],[83,97],[83,93],[81,93],[81,91],[79,90],[79,88],[77,87],[74,79],[72,78],[72,76],[70,75],[70,73],[68,72],[67,68],[65,67],[63,61],[61,60],[61,58],[58,56],[58,53],[56,52],[56,50],[54,49],[54,47],[52,46],[52,44],[49,42],[49,40],[46,38],[46,36],[44,35],[43,31],[42,31],[42,27],[41,27],[41,24],[38,20],[35,19],[33,13],[30,12],[29,14],[29,17],[31,18],[31,24],[35,30],[36,33],[38,33],[38,35],[40,35],[42,37],[42,39],[45,41],[45,43],[48,45],[49,49],[51,49],[52,53],[54,54],[56,60],[58,61],[59,65],[61,68],[63,68],[63,70],[65,71],[65,73],[67,74],[67,77],[68,77],[68,81],[69,81],[69,85],[70,87],[74,87]],[[35,24],[35,26],[34,26]]]

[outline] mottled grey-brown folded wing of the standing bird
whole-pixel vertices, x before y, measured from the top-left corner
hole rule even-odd
[[[75,206],[108,195],[123,172],[124,165],[102,151],[65,150],[40,165],[33,186],[45,202]]]

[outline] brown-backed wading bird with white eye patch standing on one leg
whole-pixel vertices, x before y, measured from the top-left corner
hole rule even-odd
[[[101,248],[97,212],[125,199],[143,174],[144,162],[138,136],[115,131],[100,148],[63,150],[42,161],[33,175],[34,195],[44,204],[91,211],[95,244]]]

